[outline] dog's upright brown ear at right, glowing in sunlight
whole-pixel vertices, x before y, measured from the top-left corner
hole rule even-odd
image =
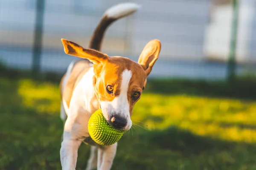
[[[138,63],[144,68],[147,76],[150,74],[154,63],[157,61],[161,50],[161,42],[159,40],[151,40],[145,45],[140,54]]]

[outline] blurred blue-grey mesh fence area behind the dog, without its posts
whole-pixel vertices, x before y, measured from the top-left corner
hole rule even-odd
[[[64,72],[75,58],[64,54],[61,38],[87,47],[104,11],[125,0],[44,0],[41,71]],[[137,60],[152,39],[162,42],[151,77],[223,79],[229,54],[231,4],[212,0],[136,0],[140,10],[114,23],[102,51]],[[240,1],[236,71],[253,69],[256,10]],[[1,0],[0,60],[10,67],[32,69],[36,0]],[[249,65],[249,64],[250,65]]]

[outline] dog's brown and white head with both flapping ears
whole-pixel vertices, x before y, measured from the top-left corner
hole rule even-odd
[[[90,60],[94,70],[94,90],[105,119],[121,130],[131,128],[131,114],[146,85],[146,78],[156,62],[161,43],[151,40],[145,45],[138,62],[125,57],[109,57],[62,39],[64,51]]]

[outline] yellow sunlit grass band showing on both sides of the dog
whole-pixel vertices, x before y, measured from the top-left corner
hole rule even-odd
[[[38,113],[59,114],[58,85],[19,81],[22,104]],[[201,136],[256,142],[256,102],[198,96],[143,94],[132,120],[148,130],[176,125]],[[134,126],[140,128],[139,126]]]

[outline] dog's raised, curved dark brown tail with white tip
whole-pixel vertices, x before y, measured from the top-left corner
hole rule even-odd
[[[108,26],[114,21],[134,13],[138,8],[139,6],[135,3],[120,3],[109,8],[102,16],[101,21],[93,32],[89,48],[100,51],[102,39]]]

